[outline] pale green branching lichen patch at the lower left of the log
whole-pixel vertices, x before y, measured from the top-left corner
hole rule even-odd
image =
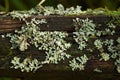
[[[11,68],[20,69],[22,72],[34,72],[42,67],[41,63],[37,59],[31,59],[29,57],[25,58],[22,61],[19,57],[14,57],[11,63]]]

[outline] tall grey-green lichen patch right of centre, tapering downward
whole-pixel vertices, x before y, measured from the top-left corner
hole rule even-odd
[[[95,36],[95,27],[96,25],[92,20],[73,19],[73,23],[76,29],[76,32],[73,32],[75,41],[79,44],[78,49],[83,50],[87,46],[87,41],[92,36]]]

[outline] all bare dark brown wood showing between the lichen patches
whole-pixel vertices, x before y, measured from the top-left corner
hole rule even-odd
[[[92,19],[96,24],[102,24],[102,27],[98,27],[98,29],[104,29],[104,25],[106,21],[111,20],[111,17],[98,15],[98,16],[32,16],[31,18],[37,19],[46,19],[47,24],[40,26],[42,31],[66,31],[69,33],[67,41],[73,43],[72,48],[68,50],[68,53],[74,56],[79,56],[79,50],[77,49],[77,44],[71,38],[72,32],[75,31],[74,26],[72,24],[72,19],[76,17],[79,18],[89,18]],[[28,19],[29,20],[29,19]],[[6,34],[9,32],[13,32],[15,29],[18,29],[23,25],[24,22],[19,21],[17,19],[12,19],[11,17],[0,17],[0,33]],[[109,38],[116,39],[116,37],[120,36],[120,28],[119,26],[116,29],[116,33],[114,36],[103,36],[101,39]],[[94,39],[91,39],[91,41]],[[91,42],[89,43],[91,44]],[[22,58],[27,55],[33,55],[35,58],[42,60],[45,57],[43,51],[38,51],[34,47],[29,47],[29,50],[25,52],[20,52],[19,50],[11,50],[11,44],[9,43],[9,39],[0,37],[0,76],[8,76],[8,77],[27,77],[26,80],[39,80],[36,77],[45,79],[45,80],[73,80],[73,79],[81,79],[81,80],[120,80],[119,74],[115,70],[115,66],[113,65],[113,61],[99,61],[98,58],[94,57],[99,54],[97,50],[94,50],[93,53],[88,53],[87,50],[84,50],[85,53],[88,53],[91,56],[91,60],[87,62],[85,71],[71,71],[66,62],[59,63],[58,65],[45,65],[43,68],[38,70],[36,73],[21,73],[18,70],[10,69],[9,66],[11,64],[10,60],[14,56],[20,56]],[[89,46],[92,47],[92,46]],[[74,53],[73,53],[74,52]],[[12,54],[11,54],[12,53]],[[76,53],[76,54],[75,54]],[[103,70],[103,73],[93,72],[94,68],[100,68]],[[79,77],[79,75],[81,77]]]

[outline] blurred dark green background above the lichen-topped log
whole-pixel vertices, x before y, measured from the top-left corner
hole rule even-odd
[[[35,7],[41,0],[0,0],[0,12],[13,10],[29,10]],[[120,7],[120,0],[46,0],[43,6],[56,7],[59,3],[65,7],[80,5],[82,10],[87,8],[95,9],[99,7],[117,10]],[[13,78],[0,78],[0,80],[20,80]]]

